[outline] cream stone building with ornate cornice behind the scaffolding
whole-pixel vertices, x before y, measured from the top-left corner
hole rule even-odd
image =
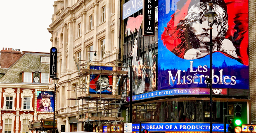
[[[120,1],[57,0],[53,7],[48,31],[58,51],[57,126],[59,131],[61,125],[65,131],[83,131],[83,124],[78,123],[83,103],[70,100],[76,98],[80,84],[78,68],[90,61],[111,64],[119,60]],[[54,84],[49,87],[54,89]]]

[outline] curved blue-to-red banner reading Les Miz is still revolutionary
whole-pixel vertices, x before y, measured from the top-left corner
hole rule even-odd
[[[174,96],[174,95],[204,95],[210,94],[209,88],[187,88],[187,89],[163,89],[142,94],[133,95],[133,101],[154,98],[158,96]],[[227,95],[227,89],[213,88],[213,95]],[[130,101],[130,97],[126,97],[126,101]]]

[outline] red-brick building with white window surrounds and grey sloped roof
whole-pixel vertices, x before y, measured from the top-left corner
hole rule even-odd
[[[49,61],[49,53],[1,50],[1,133],[29,133],[29,122],[52,114],[38,111],[36,100],[36,92],[48,90]]]

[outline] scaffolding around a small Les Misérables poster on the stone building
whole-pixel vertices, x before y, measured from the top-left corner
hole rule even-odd
[[[79,60],[76,64],[79,79],[73,89],[76,97],[69,100],[78,102],[78,122],[95,127],[125,122],[121,116],[121,105],[126,104],[123,102],[127,88],[126,65],[117,61],[85,60]]]

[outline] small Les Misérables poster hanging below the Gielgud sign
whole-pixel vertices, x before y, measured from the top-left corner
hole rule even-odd
[[[54,95],[52,91],[36,91],[36,105],[38,112],[53,112]]]

